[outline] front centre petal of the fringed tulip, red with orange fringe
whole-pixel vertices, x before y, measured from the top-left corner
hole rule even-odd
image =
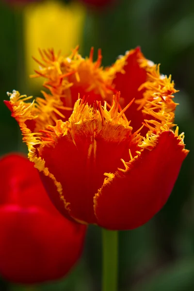
[[[60,197],[65,199],[64,208],[82,223],[97,223],[93,197],[103,184],[104,173],[122,166],[121,158],[129,160],[129,147],[132,154],[139,148],[141,137],[131,135],[129,122],[118,114],[118,104],[119,95],[109,111],[100,103],[91,109],[83,99],[78,100],[68,122],[49,127],[53,145],[39,149],[45,167],[61,184],[59,195],[53,182],[48,184],[49,179],[41,175],[51,200],[65,215]]]

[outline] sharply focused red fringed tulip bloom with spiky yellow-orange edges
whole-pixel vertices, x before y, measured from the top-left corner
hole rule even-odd
[[[28,103],[14,91],[6,103],[53,203],[80,223],[145,224],[166,203],[188,154],[174,129],[171,77],[139,48],[105,69],[93,49],[86,59],[77,49],[69,57],[40,53],[34,77],[46,78],[50,94]]]

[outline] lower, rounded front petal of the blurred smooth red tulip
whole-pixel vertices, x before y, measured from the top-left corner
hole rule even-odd
[[[38,207],[0,207],[0,274],[22,284],[64,276],[81,255],[84,230]]]

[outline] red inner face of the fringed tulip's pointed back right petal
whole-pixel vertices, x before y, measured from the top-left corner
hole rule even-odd
[[[138,91],[139,86],[146,82],[147,78],[146,70],[141,68],[139,64],[142,58],[144,57],[140,48],[134,49],[132,52],[130,51],[126,59],[126,65],[124,66],[125,74],[118,72],[113,80],[115,89],[121,92],[122,108],[126,107],[133,98],[140,99],[143,97],[144,91]],[[138,107],[139,105],[133,102],[125,112],[128,120],[131,120],[130,125],[133,127],[134,131],[139,129],[144,121],[141,110],[137,111]]]

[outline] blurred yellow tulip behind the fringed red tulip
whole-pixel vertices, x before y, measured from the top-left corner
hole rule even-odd
[[[39,58],[38,48],[53,48],[68,54],[69,50],[81,44],[85,9],[72,1],[64,4],[58,0],[33,2],[24,9],[24,41],[26,71],[30,75],[34,68],[32,56]],[[41,84],[35,79],[34,84]]]

